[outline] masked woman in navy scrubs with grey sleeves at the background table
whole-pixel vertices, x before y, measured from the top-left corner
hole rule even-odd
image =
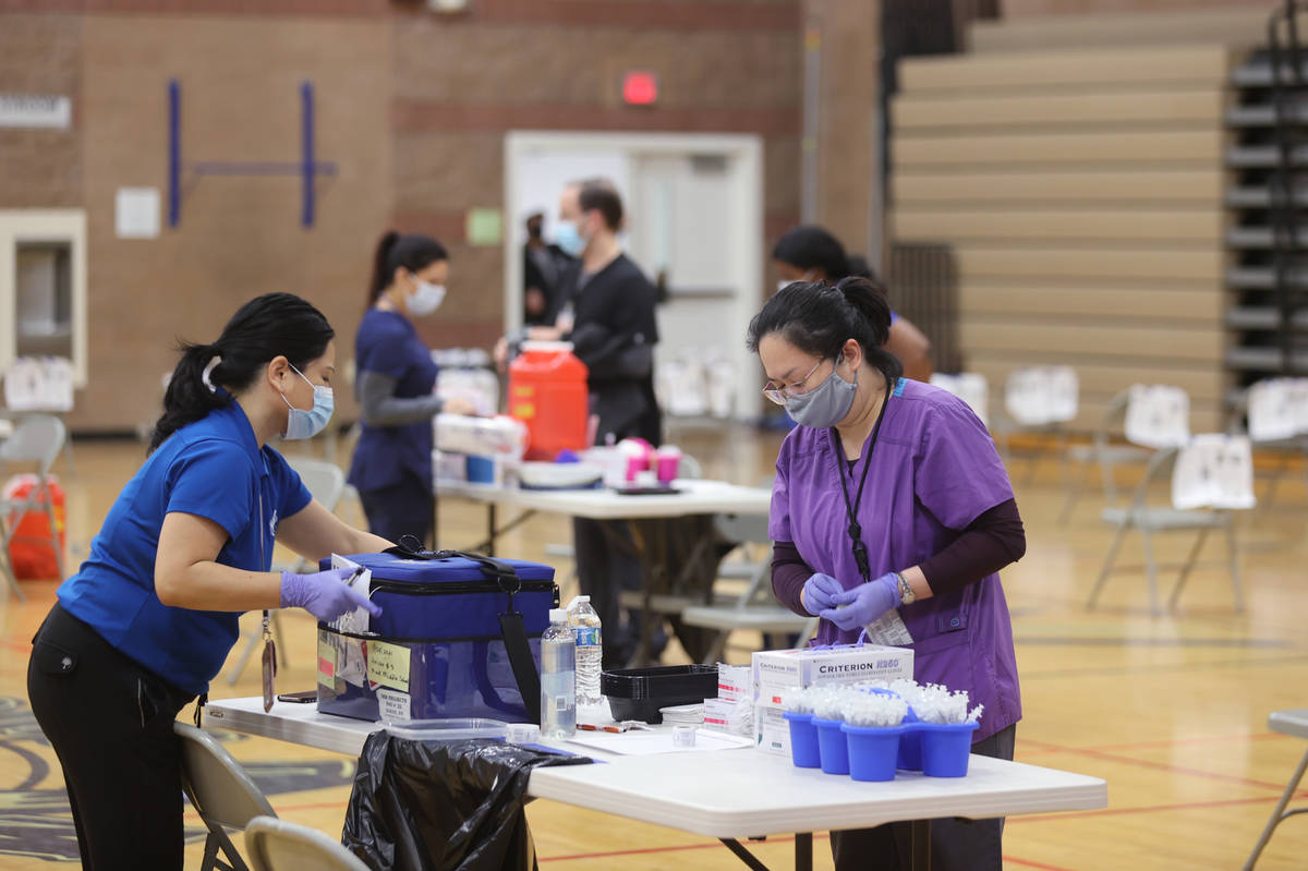
[[[358,490],[368,528],[398,541],[432,528],[432,417],[471,415],[466,399],[442,400],[437,366],[417,335],[416,318],[445,299],[450,255],[426,235],[390,231],[377,246],[368,311],[354,337],[354,394],[364,433],[354,446],[349,483]]]

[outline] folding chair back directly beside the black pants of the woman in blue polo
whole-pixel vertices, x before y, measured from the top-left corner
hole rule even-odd
[[[173,723],[173,731],[182,744],[182,789],[209,829],[200,871],[249,871],[226,828],[243,829],[255,817],[277,813],[218,739],[182,722]]]

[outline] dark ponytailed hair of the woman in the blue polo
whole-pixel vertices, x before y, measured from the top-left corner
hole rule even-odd
[[[267,293],[241,306],[213,344],[182,343],[182,360],[164,394],[164,415],[154,424],[149,453],[181,428],[232,403],[233,394],[252,384],[273,357],[284,356],[303,371],[326,353],[335,335],[309,302]]]

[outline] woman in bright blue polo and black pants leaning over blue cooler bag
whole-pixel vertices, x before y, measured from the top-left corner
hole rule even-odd
[[[63,766],[84,868],[182,867],[173,721],[203,704],[241,612],[379,613],[341,572],[268,570],[275,541],[315,560],[390,547],[315,502],[268,446],[330,420],[332,335],[311,305],[272,293],[213,344],[186,347],[149,459],[33,638],[27,696]]]

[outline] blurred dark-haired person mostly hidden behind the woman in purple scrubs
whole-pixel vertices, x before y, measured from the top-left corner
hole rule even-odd
[[[781,276],[780,288],[793,281],[825,281],[836,284],[845,276],[875,280],[867,260],[845,252],[845,246],[820,226],[790,228],[772,248],[772,260]],[[886,349],[904,364],[904,377],[913,381],[931,379],[931,340],[908,318],[891,313],[891,337]]]

